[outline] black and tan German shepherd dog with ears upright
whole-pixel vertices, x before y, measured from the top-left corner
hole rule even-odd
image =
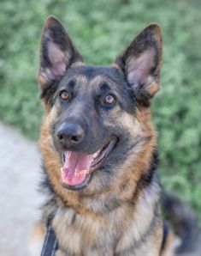
[[[157,24],[145,27],[114,64],[94,66],[84,64],[60,21],[45,22],[39,145],[44,223],[51,217],[56,256],[177,255],[171,232],[163,240],[151,124],[161,66]]]

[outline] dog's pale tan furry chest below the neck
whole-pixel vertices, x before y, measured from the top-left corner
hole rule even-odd
[[[156,256],[160,245],[154,241],[155,246],[150,247],[149,242],[157,236],[155,232],[158,225],[153,225],[156,217],[152,210],[147,212],[148,216],[143,214],[145,209],[141,210],[140,215],[134,217],[126,214],[127,210],[123,208],[102,217],[82,216],[71,209],[57,210],[53,227],[61,251],[58,255]],[[143,234],[147,231],[148,237],[145,238]],[[146,242],[139,246],[139,241],[144,238]]]

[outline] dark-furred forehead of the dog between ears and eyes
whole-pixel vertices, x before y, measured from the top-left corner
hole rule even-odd
[[[116,88],[123,82],[123,76],[115,67],[83,65],[68,69],[61,83],[65,85],[72,82],[79,90],[100,88],[104,83]]]

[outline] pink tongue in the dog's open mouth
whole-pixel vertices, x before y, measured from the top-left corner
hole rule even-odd
[[[69,186],[82,183],[86,174],[90,173],[92,155],[83,155],[75,152],[65,152],[65,162],[62,171],[62,182]]]

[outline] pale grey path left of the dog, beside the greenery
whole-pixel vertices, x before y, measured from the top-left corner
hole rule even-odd
[[[38,220],[42,196],[37,144],[0,123],[0,255],[27,256],[27,239]]]

